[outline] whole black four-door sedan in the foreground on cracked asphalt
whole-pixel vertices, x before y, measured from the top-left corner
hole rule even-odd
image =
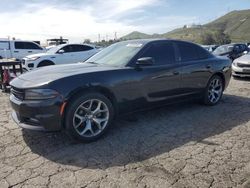
[[[115,117],[183,99],[216,105],[231,63],[178,40],[113,44],[84,63],[44,67],[11,82],[14,120],[23,128],[92,141]]]

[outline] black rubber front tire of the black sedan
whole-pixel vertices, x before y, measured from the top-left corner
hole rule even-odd
[[[75,128],[75,121],[77,120],[75,113],[78,113],[78,110],[80,110],[80,106],[82,104],[84,104],[86,102],[86,104],[88,103],[89,100],[93,100],[95,101],[101,101],[102,103],[104,103],[108,109],[108,120],[106,121],[105,127],[102,129],[98,129],[98,126],[95,125],[95,121],[91,120],[91,130],[92,128],[97,128],[97,132],[99,132],[97,135],[92,135],[92,136],[86,136],[86,135],[81,135],[79,132],[84,132],[84,130],[87,128],[87,121],[90,120],[81,120],[80,126],[77,126],[78,128]],[[93,102],[93,104],[94,104]],[[92,104],[92,103],[91,103]],[[104,105],[103,104],[103,105]],[[100,112],[102,113],[102,112]],[[106,112],[104,112],[106,113]],[[86,115],[87,112],[85,110],[83,110],[83,114],[82,116],[87,116]],[[79,114],[77,114],[79,115]],[[82,117],[81,116],[81,117]],[[93,116],[93,114],[92,114]],[[91,93],[85,93],[82,95],[79,95],[78,97],[75,97],[73,99],[73,101],[71,101],[69,103],[69,105],[66,108],[66,112],[65,112],[65,128],[66,128],[66,133],[69,134],[69,136],[73,137],[74,139],[81,141],[81,142],[91,142],[91,141],[95,141],[98,138],[100,138],[110,127],[110,125],[112,124],[112,121],[114,119],[114,108],[112,103],[110,102],[110,100],[105,97],[102,94],[96,93],[96,92],[91,92]],[[93,124],[94,123],[94,124]],[[81,129],[81,130],[79,130]],[[92,130],[93,131],[93,130]],[[88,131],[86,131],[87,133]],[[89,131],[90,134],[92,133],[91,131]]]

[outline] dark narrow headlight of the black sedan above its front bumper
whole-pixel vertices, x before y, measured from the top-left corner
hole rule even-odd
[[[25,100],[52,99],[58,95],[59,93],[52,89],[27,89],[25,91]]]

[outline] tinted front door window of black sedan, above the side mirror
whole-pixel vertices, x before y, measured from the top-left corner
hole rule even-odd
[[[175,50],[172,43],[156,43],[148,47],[141,57],[152,57],[156,65],[175,63]]]

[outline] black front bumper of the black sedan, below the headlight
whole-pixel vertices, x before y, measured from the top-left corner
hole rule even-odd
[[[12,118],[22,128],[38,131],[58,131],[62,129],[60,97],[40,101],[21,101],[10,95],[13,108]]]

